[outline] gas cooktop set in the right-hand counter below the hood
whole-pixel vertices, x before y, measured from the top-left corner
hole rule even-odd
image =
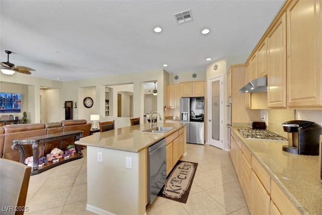
[[[238,128],[238,131],[246,139],[287,141],[286,138],[265,129]]]

